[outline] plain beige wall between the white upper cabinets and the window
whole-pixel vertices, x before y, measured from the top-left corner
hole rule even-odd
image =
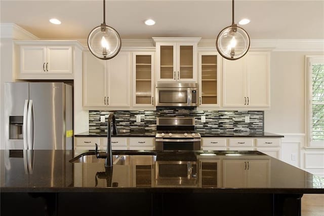
[[[305,55],[320,52],[271,52],[271,110],[264,112],[264,130],[305,133]]]

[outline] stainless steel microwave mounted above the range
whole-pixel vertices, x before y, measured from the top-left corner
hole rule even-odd
[[[156,83],[156,106],[197,106],[197,83]]]

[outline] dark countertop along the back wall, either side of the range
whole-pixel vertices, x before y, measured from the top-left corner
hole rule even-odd
[[[267,138],[280,138],[283,135],[269,133],[269,132],[219,132],[212,130],[204,130],[197,132],[201,137],[267,137]],[[96,133],[96,132],[83,132],[75,134],[74,136],[107,136],[107,133]],[[117,135],[111,136],[153,136],[155,137],[155,132],[128,132],[128,133],[118,133]]]

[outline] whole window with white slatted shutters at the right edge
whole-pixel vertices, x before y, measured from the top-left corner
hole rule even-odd
[[[324,147],[324,56],[306,57],[307,124],[310,147]]]

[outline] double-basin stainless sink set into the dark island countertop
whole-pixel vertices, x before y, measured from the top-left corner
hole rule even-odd
[[[112,155],[113,165],[152,165],[156,161],[155,155]],[[105,159],[97,158],[93,152],[80,154],[72,158],[71,163],[105,163]]]

